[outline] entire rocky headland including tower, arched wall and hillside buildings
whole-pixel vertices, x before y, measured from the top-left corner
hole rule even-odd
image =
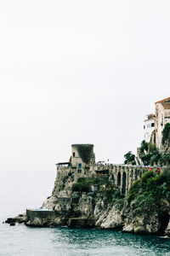
[[[169,104],[169,98],[156,102],[156,114],[144,121],[144,129],[153,122],[150,143],[143,141],[137,155],[127,152],[124,165],[96,163],[93,144],[71,145],[71,158],[57,164],[52,195],[42,207],[6,223],[170,236],[170,124],[167,118],[162,123]]]

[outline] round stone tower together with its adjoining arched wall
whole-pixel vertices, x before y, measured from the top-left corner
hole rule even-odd
[[[147,168],[144,166],[113,165],[105,161],[95,162],[93,144],[71,145],[71,158],[68,162],[57,164],[57,183],[53,194],[59,195],[62,200],[67,200],[69,191],[71,194],[72,183],[79,177],[106,177],[122,194],[127,195],[132,183],[140,178]],[[68,188],[63,193],[63,181],[67,179]],[[94,184],[91,185],[94,188]]]

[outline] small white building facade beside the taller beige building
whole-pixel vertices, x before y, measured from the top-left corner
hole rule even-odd
[[[150,143],[150,137],[155,130],[155,115],[150,113],[146,115],[147,119],[144,120],[144,141]]]

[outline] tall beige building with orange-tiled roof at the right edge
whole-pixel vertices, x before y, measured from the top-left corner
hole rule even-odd
[[[170,123],[170,97],[155,103],[156,118],[156,147],[161,147],[162,131],[167,123]]]

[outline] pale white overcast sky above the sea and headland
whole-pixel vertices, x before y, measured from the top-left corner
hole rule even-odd
[[[55,170],[71,143],[122,163],[170,96],[170,2],[0,3],[0,169]]]

